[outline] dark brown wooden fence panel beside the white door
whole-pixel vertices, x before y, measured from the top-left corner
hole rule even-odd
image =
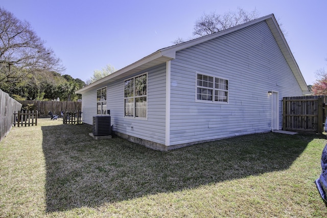
[[[326,96],[283,98],[283,130],[322,133]]]

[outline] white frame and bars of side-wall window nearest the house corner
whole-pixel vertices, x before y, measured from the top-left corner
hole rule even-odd
[[[137,77],[141,77],[141,76],[146,76],[146,95],[137,95],[135,96],[135,78]],[[128,96],[126,97],[125,96],[125,82],[128,81],[128,80],[133,80],[133,89],[132,89],[132,96]],[[133,119],[148,119],[148,72],[146,73],[143,73],[143,74],[139,74],[139,75],[136,75],[134,77],[130,77],[128,79],[125,79],[124,80],[124,118],[133,118]],[[136,113],[137,112],[137,107],[136,107],[136,99],[137,98],[145,98],[146,99],[146,106],[144,107],[145,108],[145,116],[144,117],[139,117],[139,116],[136,116]],[[131,113],[132,115],[130,116],[126,116],[126,100],[129,99],[129,103],[133,103],[133,106],[132,106],[132,109],[133,109],[133,113]]]

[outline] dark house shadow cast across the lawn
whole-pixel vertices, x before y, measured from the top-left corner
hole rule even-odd
[[[42,127],[48,212],[284,170],[317,138],[256,134],[160,152],[88,133],[89,125]]]

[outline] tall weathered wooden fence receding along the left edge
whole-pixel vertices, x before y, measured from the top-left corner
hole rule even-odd
[[[11,98],[8,93],[0,90],[0,141],[12,128],[12,114],[19,111],[21,103]]]

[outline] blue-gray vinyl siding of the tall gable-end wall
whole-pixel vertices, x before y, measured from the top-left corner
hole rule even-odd
[[[196,101],[196,72],[228,79],[229,102]],[[266,21],[176,53],[171,61],[170,145],[271,130],[271,99],[302,91]]]

